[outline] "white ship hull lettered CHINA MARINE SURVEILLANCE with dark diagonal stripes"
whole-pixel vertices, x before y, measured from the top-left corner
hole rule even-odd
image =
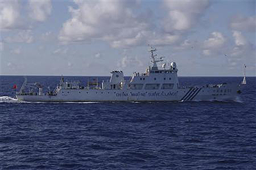
[[[193,87],[172,90],[72,90],[63,89],[54,96],[47,94],[17,95],[20,101],[83,102],[83,101],[231,101],[235,100],[241,85],[221,87]]]

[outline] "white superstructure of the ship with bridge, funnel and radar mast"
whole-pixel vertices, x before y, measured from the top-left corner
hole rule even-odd
[[[164,57],[157,57],[154,52],[156,48],[150,48],[152,66],[149,66],[145,73],[134,72],[129,81],[124,80],[122,71],[112,71],[111,78],[108,81],[102,81],[102,89],[177,89],[179,88],[179,80],[177,77],[177,65],[171,62],[166,66],[162,64],[162,68],[157,66],[158,62],[163,62]]]

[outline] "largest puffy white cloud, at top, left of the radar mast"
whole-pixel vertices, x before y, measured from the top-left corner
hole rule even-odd
[[[64,43],[101,39],[113,46],[140,42],[141,31],[147,30],[146,17],[135,15],[131,2],[75,1],[78,8],[69,7],[72,18],[63,24],[59,39]],[[132,2],[134,6],[136,3]]]

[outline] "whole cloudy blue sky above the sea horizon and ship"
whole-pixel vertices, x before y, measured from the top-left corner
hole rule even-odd
[[[255,28],[255,1],[1,0],[0,70],[131,76],[150,45],[179,76],[255,76]]]

